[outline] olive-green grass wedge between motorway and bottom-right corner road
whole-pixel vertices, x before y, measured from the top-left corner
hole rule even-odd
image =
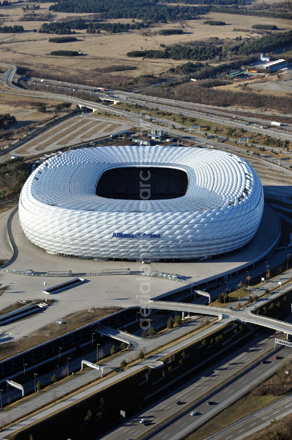
[[[242,397],[237,402],[230,405],[223,410],[220,414],[215,415],[207,423],[201,426],[199,429],[189,436],[185,437],[188,440],[203,440],[207,436],[211,436],[213,433],[217,433],[227,426],[238,422],[244,417],[260,410],[263,407],[269,406],[271,403],[277,402],[284,396],[252,396],[249,393],[247,396]]]

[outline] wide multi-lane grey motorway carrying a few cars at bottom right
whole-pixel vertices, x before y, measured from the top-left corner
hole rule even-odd
[[[107,435],[100,437],[102,440],[121,440],[129,437],[136,439],[139,436],[144,438],[177,440],[183,438],[182,434],[187,434],[214,416],[214,414],[222,411],[231,402],[237,400],[241,395],[251,389],[252,386],[259,383],[262,379],[274,372],[281,363],[280,359],[275,360],[274,354],[266,357],[265,354],[271,348],[274,348],[274,334],[270,332],[263,336],[257,337],[254,341],[237,350],[233,355],[222,359],[221,362],[214,365],[188,381],[175,392],[167,395],[167,397],[157,401],[154,405],[144,411],[136,414],[134,417],[120,425],[118,429],[111,431]],[[281,348],[277,352],[279,357],[285,359],[292,356],[291,348]],[[248,367],[255,359],[267,359],[267,363],[256,363],[255,366],[245,374],[239,374],[237,379],[230,385],[226,384],[223,389],[213,392],[214,387],[223,381],[228,380],[233,374],[239,372],[242,368]],[[208,393],[207,396],[206,392]],[[203,401],[199,404],[191,405],[196,399],[204,396]],[[176,405],[177,401],[181,401],[180,405]],[[214,405],[208,405],[207,402],[212,401]],[[184,410],[186,414],[181,414]],[[191,411],[197,411],[196,416],[191,416]],[[292,410],[291,410],[292,411]],[[161,426],[157,433],[147,436],[147,432],[156,425],[166,422],[171,416],[171,422],[167,421],[167,425]],[[150,422],[150,425],[144,426],[140,424],[141,418]],[[225,438],[225,437],[223,437]]]

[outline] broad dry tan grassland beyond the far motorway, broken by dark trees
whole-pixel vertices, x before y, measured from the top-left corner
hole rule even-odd
[[[40,4],[41,9],[36,13],[47,13],[51,3]],[[13,5],[1,8],[1,12],[9,14],[4,18],[3,25],[20,24],[26,30],[39,28],[43,22],[23,22],[19,18],[23,15],[22,6]],[[31,5],[31,4],[30,4]],[[85,17],[89,14],[68,14],[53,12],[54,20],[62,20],[66,17]],[[225,21],[226,26],[208,26],[203,21],[208,19]],[[110,22],[131,22],[131,19],[114,19]],[[242,37],[250,37],[251,33],[246,31],[233,31],[233,28],[250,29],[253,24],[274,24],[281,30],[292,29],[292,21],[285,19],[252,17],[232,14],[208,13],[204,18],[199,20],[189,20],[184,23],[186,32],[181,36],[170,35],[162,36],[158,34],[160,29],[180,28],[179,23],[156,24],[150,29],[141,29],[140,31],[130,31],[128,33],[108,34],[101,31],[100,34],[86,34],[85,31],[77,31],[77,42],[66,44],[49,43],[48,39],[52,34],[40,33],[22,33],[18,35],[0,34],[0,56],[3,61],[14,63],[18,66],[30,64],[40,69],[43,65],[50,65],[52,68],[60,71],[66,69],[78,71],[91,71],[98,67],[107,67],[113,64],[128,64],[136,66],[137,70],[119,72],[119,75],[136,77],[145,73],[159,74],[171,66],[180,65],[183,61],[170,61],[164,59],[142,60],[141,58],[129,58],[126,53],[132,50],[143,49],[159,49],[159,45],[188,43],[192,40],[204,40],[211,36],[221,38],[234,38],[239,35]],[[147,35],[145,35],[145,33]],[[252,31],[253,34],[253,31]],[[2,41],[1,41],[2,39]],[[80,50],[84,53],[81,57],[54,57],[48,55],[50,51],[56,49]]]

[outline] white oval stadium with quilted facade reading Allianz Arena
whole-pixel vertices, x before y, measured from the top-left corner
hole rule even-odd
[[[263,211],[259,177],[219,150],[109,146],[56,154],[28,178],[19,219],[48,253],[199,259],[248,243]]]

